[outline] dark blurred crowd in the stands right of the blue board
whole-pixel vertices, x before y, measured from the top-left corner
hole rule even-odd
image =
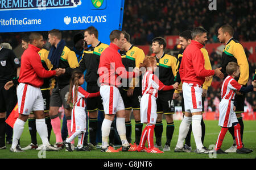
[[[136,45],[151,44],[157,36],[179,35],[185,30],[203,26],[208,31],[208,43],[218,43],[217,29],[230,24],[242,41],[255,41],[256,2],[253,0],[216,1],[216,10],[209,10],[210,1],[148,0],[125,1],[123,29],[131,32]]]

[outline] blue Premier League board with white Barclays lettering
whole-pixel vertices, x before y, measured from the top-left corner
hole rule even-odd
[[[0,32],[122,29],[125,0],[0,0]],[[104,40],[102,40],[104,41]],[[106,39],[109,41],[109,39]]]

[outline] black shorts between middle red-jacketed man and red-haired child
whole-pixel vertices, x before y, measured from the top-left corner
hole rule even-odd
[[[142,88],[137,87],[134,88],[133,96],[127,96],[127,89],[126,88],[119,88],[119,92],[122,96],[123,103],[125,104],[125,110],[133,109],[139,110],[141,104],[141,97],[142,97]]]

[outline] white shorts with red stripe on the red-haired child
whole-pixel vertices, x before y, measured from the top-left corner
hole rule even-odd
[[[141,98],[141,123],[155,124],[156,118],[158,118],[156,98],[150,94],[143,94]]]

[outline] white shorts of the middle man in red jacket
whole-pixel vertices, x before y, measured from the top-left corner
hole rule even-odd
[[[115,114],[119,110],[125,110],[122,96],[117,87],[101,85],[100,94],[102,97],[105,114]]]

